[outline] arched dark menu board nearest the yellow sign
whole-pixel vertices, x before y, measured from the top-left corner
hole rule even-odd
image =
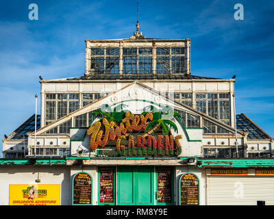
[[[91,205],[91,177],[79,172],[73,179],[73,205]]]

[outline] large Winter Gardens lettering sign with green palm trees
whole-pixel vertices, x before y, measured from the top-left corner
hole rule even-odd
[[[97,110],[92,113],[103,118],[90,125],[86,131],[90,136],[91,151],[95,151],[98,147],[103,148],[108,142],[116,140],[116,152],[122,156],[173,157],[181,154],[182,146],[179,139],[182,135],[174,137],[169,131],[170,128],[178,132],[177,126],[171,120],[180,116],[176,112],[162,110],[135,115],[129,111],[116,112],[114,109],[113,112]],[[162,133],[158,131],[160,128]]]

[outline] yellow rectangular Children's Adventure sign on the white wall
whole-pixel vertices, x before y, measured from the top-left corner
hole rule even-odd
[[[10,184],[9,205],[60,205],[60,184]]]

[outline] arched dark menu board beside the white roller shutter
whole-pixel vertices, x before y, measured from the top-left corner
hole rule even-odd
[[[181,177],[181,205],[199,205],[199,181],[191,173]]]

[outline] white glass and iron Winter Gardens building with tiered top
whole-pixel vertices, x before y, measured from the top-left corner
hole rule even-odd
[[[60,205],[210,205],[234,203],[216,194],[237,177],[272,186],[271,172],[257,173],[272,165],[273,139],[235,116],[235,79],[192,75],[190,42],[138,31],[86,40],[82,75],[40,80],[37,131],[33,115],[2,140],[0,169],[15,173],[5,173],[2,188],[16,188],[25,174],[20,184],[60,185]],[[82,203],[79,174],[90,186]],[[253,204],[260,194],[236,203]],[[7,197],[0,203],[16,203]]]

